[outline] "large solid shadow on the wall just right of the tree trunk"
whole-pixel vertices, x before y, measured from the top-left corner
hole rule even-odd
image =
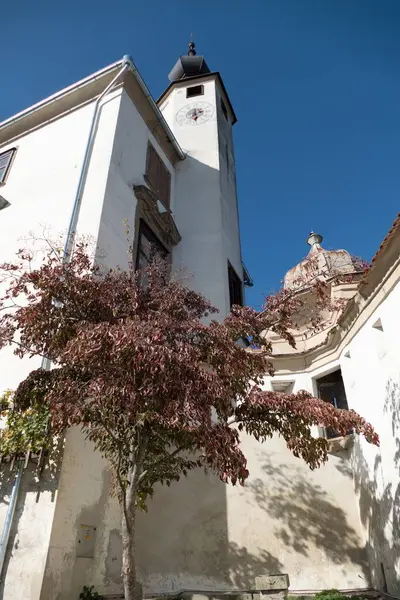
[[[201,470],[169,488],[158,486],[148,513],[137,520],[146,591],[252,590],[257,576],[281,572],[268,549],[250,552],[229,541],[226,493],[226,484]]]

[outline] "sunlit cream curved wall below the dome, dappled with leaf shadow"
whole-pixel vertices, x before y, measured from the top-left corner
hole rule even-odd
[[[337,367],[266,377],[265,389],[286,381],[293,392],[315,393],[315,378]],[[245,436],[243,450],[250,477],[244,488],[227,488],[230,543],[245,547],[258,568],[288,573],[292,590],[368,587],[349,455],[330,455],[311,471],[277,436],[264,444]]]

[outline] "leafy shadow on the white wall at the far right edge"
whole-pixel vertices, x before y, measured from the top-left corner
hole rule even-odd
[[[384,414],[390,419],[392,439],[385,440],[384,455],[393,453],[390,473],[384,470],[381,454],[371,466],[358,443],[354,450],[354,480],[359,495],[360,517],[367,532],[367,550],[374,587],[400,593],[400,386],[386,383]],[[393,444],[391,447],[389,444]],[[390,455],[389,454],[389,455]],[[392,533],[390,534],[390,529]],[[386,533],[385,533],[386,530]],[[388,531],[389,530],[389,531]],[[398,569],[398,567],[397,567]]]

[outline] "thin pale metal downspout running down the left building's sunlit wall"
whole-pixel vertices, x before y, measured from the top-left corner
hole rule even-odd
[[[108,84],[106,89],[100,94],[100,96],[97,98],[97,100],[95,102],[93,117],[92,117],[92,121],[90,124],[90,129],[89,129],[89,135],[88,135],[88,139],[86,142],[85,154],[84,154],[84,158],[83,158],[83,162],[82,162],[81,172],[79,175],[78,187],[77,187],[76,193],[75,193],[75,199],[74,199],[74,204],[73,204],[73,208],[72,208],[71,219],[69,222],[67,237],[65,240],[64,254],[63,254],[63,263],[64,264],[67,264],[70,261],[72,249],[74,246],[75,229],[76,229],[76,226],[78,223],[79,209],[82,204],[83,192],[85,189],[87,173],[89,170],[90,157],[92,154],[93,144],[94,144],[94,140],[96,137],[97,125],[98,125],[98,121],[99,121],[100,103],[103,100],[103,98],[108,94],[108,92],[113,88],[115,83],[121,77],[122,73],[124,73],[124,71],[126,71],[127,69],[132,68],[132,61],[130,60],[129,57],[124,56],[122,59],[122,65],[123,65],[122,69],[114,77],[114,79]],[[51,361],[48,358],[43,358],[41,368],[45,369],[46,371],[49,371],[50,367],[51,367]],[[12,489],[11,497],[10,497],[10,503],[7,508],[6,518],[4,521],[3,531],[1,534],[1,539],[0,539],[0,581],[3,578],[3,568],[4,568],[7,544],[8,544],[8,540],[10,538],[10,531],[11,531],[12,523],[14,520],[15,507],[16,507],[17,501],[18,501],[23,468],[24,468],[24,463],[21,463],[21,466],[20,466],[20,468],[17,472],[17,475],[15,477],[15,480],[14,480],[14,485],[13,485],[13,489]]]

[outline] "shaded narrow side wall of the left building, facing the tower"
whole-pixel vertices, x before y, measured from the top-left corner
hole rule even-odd
[[[107,266],[126,268],[130,255],[123,221],[128,220],[130,236],[134,237],[137,201],[132,186],[145,184],[149,140],[171,171],[172,208],[174,170],[124,91],[118,108],[104,202],[96,213],[97,244]],[[90,208],[85,212],[88,217]],[[120,510],[110,489],[105,461],[78,429],[69,431],[41,600],[77,598],[83,585],[88,584],[96,585],[101,593],[121,591]],[[96,527],[93,558],[76,557],[80,525]]]

